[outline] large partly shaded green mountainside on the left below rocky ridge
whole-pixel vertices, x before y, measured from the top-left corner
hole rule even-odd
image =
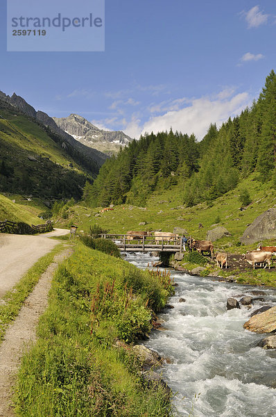
[[[98,165],[64,148],[58,136],[0,101],[0,193],[80,198]]]

